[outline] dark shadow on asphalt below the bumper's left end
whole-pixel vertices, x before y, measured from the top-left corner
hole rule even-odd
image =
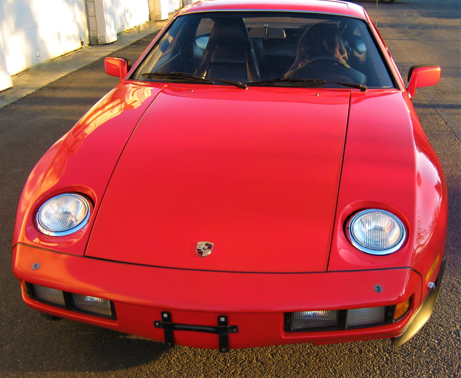
[[[27,345],[21,350],[1,348],[0,376],[1,371],[17,374],[129,369],[152,363],[169,350],[164,343],[72,320],[48,320],[39,313],[32,313],[29,320],[32,326],[23,324],[19,330],[30,333]],[[40,331],[34,329],[37,326]]]

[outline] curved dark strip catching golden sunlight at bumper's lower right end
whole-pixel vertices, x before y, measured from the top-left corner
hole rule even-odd
[[[435,285],[434,291],[429,294],[423,304],[415,311],[408,320],[407,325],[403,328],[403,332],[400,336],[392,340],[392,347],[396,348],[401,346],[403,343],[406,343],[411,339],[429,320],[432,311],[435,307],[435,302],[437,301],[438,292],[440,291],[440,285],[442,283],[443,271],[445,270],[446,258],[442,260],[442,265],[440,267],[440,273],[437,277],[437,283]]]

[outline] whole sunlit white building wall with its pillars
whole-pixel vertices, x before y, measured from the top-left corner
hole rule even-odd
[[[8,76],[75,50],[81,40],[115,41],[118,32],[147,22],[149,11],[153,21],[163,20],[192,1],[0,0],[0,91],[11,85]]]

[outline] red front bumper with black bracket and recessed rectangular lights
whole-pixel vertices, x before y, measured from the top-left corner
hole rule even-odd
[[[32,269],[38,262],[40,268]],[[397,337],[420,306],[421,278],[409,268],[327,273],[236,273],[158,268],[53,252],[27,245],[13,249],[13,272],[23,282],[23,299],[48,314],[165,341],[154,326],[162,312],[177,324],[215,327],[225,315],[238,333],[229,347],[289,343],[335,343]],[[109,299],[117,319],[104,319],[37,302],[24,281],[62,291]],[[376,285],[383,290],[374,290]],[[285,332],[284,313],[391,306],[411,297],[402,320],[392,324],[336,331]],[[174,343],[219,348],[213,333],[174,330]]]

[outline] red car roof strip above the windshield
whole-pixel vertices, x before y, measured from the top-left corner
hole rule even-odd
[[[362,6],[335,0],[201,0],[185,6],[179,13],[226,10],[315,12],[366,18]]]

